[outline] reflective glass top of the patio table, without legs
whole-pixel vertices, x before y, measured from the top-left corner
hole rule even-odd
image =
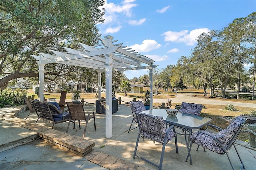
[[[165,122],[170,123],[171,125],[175,125],[178,127],[186,127],[190,129],[201,128],[212,121],[212,119],[208,117],[189,115],[189,114],[180,113],[180,112],[178,112],[176,116],[169,116],[167,115],[165,109],[152,109],[152,110],[142,111],[142,113],[150,114],[153,116],[161,116],[163,117]]]

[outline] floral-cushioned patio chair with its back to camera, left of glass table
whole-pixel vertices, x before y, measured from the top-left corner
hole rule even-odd
[[[137,156],[138,158],[141,158],[142,160],[158,167],[158,169],[161,170],[163,159],[164,159],[165,145],[170,140],[172,140],[172,138],[175,138],[176,153],[178,153],[177,136],[176,136],[174,126],[170,126],[167,129],[166,126],[164,125],[163,117],[156,117],[156,116],[143,114],[143,113],[137,113],[136,119],[137,119],[137,123],[140,131],[138,133],[133,158]],[[154,142],[159,142],[162,144],[162,152],[161,152],[159,165],[136,154],[140,136],[142,136],[142,138],[148,138],[150,140],[153,140]],[[146,149],[146,148],[143,147],[143,149]]]

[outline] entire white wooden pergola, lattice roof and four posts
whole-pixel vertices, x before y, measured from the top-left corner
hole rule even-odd
[[[44,98],[44,65],[60,63],[87,67],[98,71],[99,99],[101,99],[101,73],[106,71],[106,138],[112,137],[112,69],[117,71],[149,69],[150,109],[153,108],[152,69],[157,67],[152,59],[116,43],[112,36],[99,38],[100,44],[89,46],[79,43],[80,49],[63,47],[67,52],[52,51],[54,54],[38,53],[31,55],[39,65],[39,100]],[[114,44],[115,43],[115,44]]]

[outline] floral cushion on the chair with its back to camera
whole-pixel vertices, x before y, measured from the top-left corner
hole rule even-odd
[[[139,121],[140,133],[142,136],[151,140],[163,143],[164,137],[166,136],[167,128],[164,125],[163,117],[152,117],[146,114],[136,115]],[[159,123],[159,125],[158,125]],[[162,134],[162,136],[161,136]],[[168,143],[176,135],[175,132],[170,130],[166,143]]]

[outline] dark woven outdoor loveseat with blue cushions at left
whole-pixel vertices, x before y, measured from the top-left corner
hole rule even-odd
[[[38,119],[52,123],[52,128],[55,123],[63,123],[69,121],[70,114],[66,111],[61,111],[57,102],[41,102],[36,100],[30,100],[30,103],[34,107]]]

